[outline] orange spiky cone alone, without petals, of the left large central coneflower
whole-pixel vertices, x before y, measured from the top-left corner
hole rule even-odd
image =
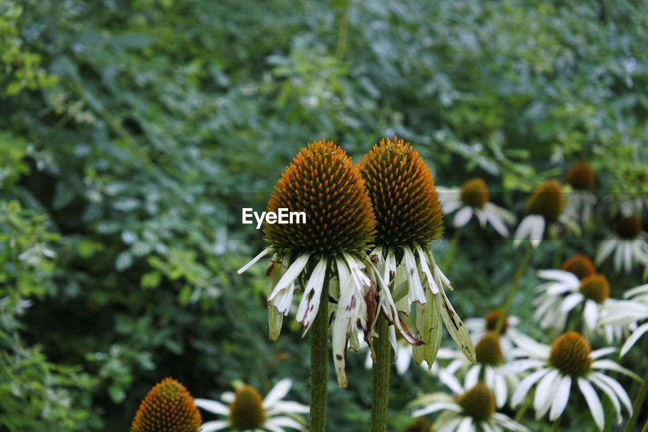
[[[308,145],[283,173],[268,211],[304,211],[305,224],[266,224],[265,239],[292,254],[341,256],[371,246],[376,225],[360,173],[331,141]]]

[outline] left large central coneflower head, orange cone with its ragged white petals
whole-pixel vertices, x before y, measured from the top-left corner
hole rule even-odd
[[[266,223],[264,235],[270,246],[238,273],[273,253],[266,272],[273,341],[292,306],[295,280],[303,291],[297,309],[303,335],[318,314],[325,284],[330,283],[329,296],[337,303],[333,360],[338,382],[345,386],[347,341],[358,348],[358,322],[365,331],[371,324],[367,319],[371,306],[365,300],[373,304],[363,261],[368,260],[365,249],[373,243],[376,222],[364,180],[344,150],[330,141],[318,141],[302,149],[277,182],[268,211],[280,208],[303,211],[306,223]]]

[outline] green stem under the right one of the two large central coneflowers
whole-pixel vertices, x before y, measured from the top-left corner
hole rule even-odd
[[[391,369],[391,346],[387,319],[378,317],[378,340],[374,344],[376,364],[373,365],[371,387],[371,432],[387,430],[387,405],[389,400],[389,370]]]

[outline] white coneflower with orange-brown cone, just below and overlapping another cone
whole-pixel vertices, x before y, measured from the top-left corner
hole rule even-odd
[[[572,259],[567,262],[570,261],[573,263]],[[579,279],[571,271],[540,270],[538,276],[549,281],[535,289],[540,295],[533,300],[536,307],[534,317],[540,322],[540,328],[562,331],[570,313],[574,311],[573,313],[582,315],[583,331],[587,335],[595,330],[603,331],[610,343],[621,337],[622,326],[599,325],[599,320],[603,317],[601,307],[610,302],[610,283],[603,274],[589,274]]]

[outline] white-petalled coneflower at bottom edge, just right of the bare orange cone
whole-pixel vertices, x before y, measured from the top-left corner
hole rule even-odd
[[[296,429],[306,431],[305,419],[308,407],[301,403],[283,400],[292,387],[290,379],[282,379],[262,398],[257,389],[244,385],[233,392],[224,392],[221,400],[194,399],[196,407],[209,413],[225,416],[224,420],[203,423],[201,432],[253,431],[283,432]],[[227,405],[226,405],[227,404]]]

